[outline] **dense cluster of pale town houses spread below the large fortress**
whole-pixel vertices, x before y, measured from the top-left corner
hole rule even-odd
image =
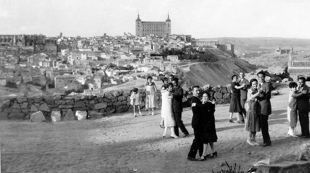
[[[135,80],[131,76],[135,72],[166,71],[182,76],[183,71],[175,63],[195,60],[180,60],[178,55],[152,56],[161,54],[162,50],[178,50],[186,45],[199,47],[197,40],[182,39],[181,36],[138,37],[124,33],[117,37],[104,34],[81,38],[64,37],[60,33],[58,37],[46,38],[45,49],[33,49],[28,54],[22,53],[22,47],[2,46],[0,85],[33,81],[42,86],[54,84],[56,90],[88,88],[86,91],[95,91]]]

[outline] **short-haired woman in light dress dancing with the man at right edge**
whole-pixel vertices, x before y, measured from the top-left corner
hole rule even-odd
[[[287,106],[287,120],[289,123],[289,131],[287,134],[293,137],[297,137],[294,134],[294,128],[297,125],[297,97],[301,96],[303,93],[297,94],[297,83],[296,82],[290,82],[290,94],[289,94],[289,105]]]

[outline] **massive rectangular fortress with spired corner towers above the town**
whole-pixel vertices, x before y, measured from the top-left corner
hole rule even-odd
[[[138,13],[138,18],[136,19],[136,36],[149,36],[150,34],[155,36],[171,35],[169,13],[165,22],[144,22],[141,21]]]

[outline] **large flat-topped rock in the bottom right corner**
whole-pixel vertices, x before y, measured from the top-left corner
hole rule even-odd
[[[310,170],[310,162],[298,161],[298,162],[281,162],[270,165],[259,165],[255,173],[308,173]]]

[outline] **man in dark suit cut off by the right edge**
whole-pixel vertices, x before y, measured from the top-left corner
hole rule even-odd
[[[297,110],[301,128],[300,137],[309,138],[310,88],[306,85],[306,78],[304,77],[299,77],[298,83],[299,83],[298,93],[303,93],[301,96],[297,97]]]

